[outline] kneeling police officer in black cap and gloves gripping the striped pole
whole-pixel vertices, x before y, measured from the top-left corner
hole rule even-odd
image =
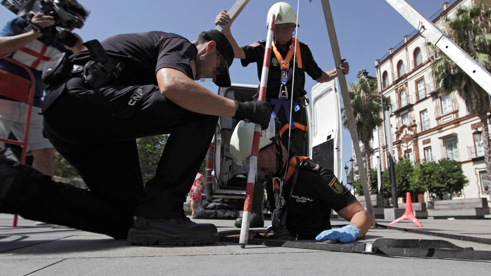
[[[53,182],[0,157],[0,212],[134,244],[218,241],[215,225],[184,215],[182,198],[210,145],[217,116],[247,118],[265,128],[271,113],[266,101],[234,102],[194,81],[213,78],[230,86],[234,54],[227,38],[209,30],[190,42],[149,31],[84,45],[89,49],[60,55],[45,68],[43,113],[46,136],[90,190]],[[143,186],[136,138],[159,134],[169,138],[155,177]]]

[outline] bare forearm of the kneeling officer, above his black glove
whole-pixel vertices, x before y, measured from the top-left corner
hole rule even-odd
[[[218,96],[179,70],[160,69],[157,72],[157,83],[165,98],[184,109],[208,115],[235,115],[234,101]]]

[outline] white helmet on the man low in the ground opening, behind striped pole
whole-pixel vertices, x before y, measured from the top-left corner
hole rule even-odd
[[[234,133],[232,133],[232,137],[230,138],[230,155],[239,165],[245,164],[246,159],[251,155],[254,127],[254,123],[240,121],[235,127]],[[259,138],[259,150],[273,144],[279,134],[279,130],[279,121],[271,117],[269,127],[266,130],[261,131],[261,136]]]

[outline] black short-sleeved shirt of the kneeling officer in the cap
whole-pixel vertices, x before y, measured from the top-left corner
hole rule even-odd
[[[155,74],[162,68],[173,68],[194,80],[198,50],[186,38],[169,32],[147,31],[111,36],[101,41],[110,58],[123,61],[126,67],[112,84],[155,84]],[[70,56],[79,65],[92,59],[88,50]]]

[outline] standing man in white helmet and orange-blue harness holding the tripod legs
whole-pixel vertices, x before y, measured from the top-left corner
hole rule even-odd
[[[308,155],[308,138],[307,138],[307,111],[305,106],[308,101],[304,97],[307,92],[304,89],[305,73],[318,83],[325,83],[333,80],[337,76],[336,69],[323,71],[315,62],[312,53],[307,44],[297,41],[292,37],[292,33],[297,27],[297,16],[292,6],[286,2],[277,2],[271,6],[266,19],[266,27],[269,25],[271,15],[276,16],[274,27],[274,41],[272,45],[272,55],[269,66],[268,82],[266,86],[266,99],[273,107],[272,116],[277,118],[281,126],[288,128],[291,124],[291,137],[289,132],[282,136],[282,142],[285,146],[289,146],[290,150],[299,155]],[[220,12],[215,24],[227,24],[230,18],[226,10]],[[236,58],[241,59],[242,65],[245,67],[249,63],[255,62],[257,65],[257,74],[261,79],[262,64],[264,59],[264,50],[266,40],[261,40],[245,47],[239,47],[232,36],[230,28],[224,31],[225,36],[230,41],[234,49]],[[296,54],[294,56],[296,47]],[[295,60],[295,76],[294,72]],[[348,74],[350,66],[348,62],[341,62],[339,65],[344,74]],[[292,88],[294,83],[295,87]],[[291,97],[294,97],[293,107],[290,107]],[[290,110],[292,110],[290,112]],[[290,113],[292,113],[292,121],[290,122]],[[290,140],[290,141],[289,141]],[[254,198],[252,204],[252,214],[250,227],[263,227],[263,205],[260,198],[264,198],[260,185],[255,185]],[[271,182],[265,184],[266,191],[272,191]],[[261,191],[259,191],[259,190]],[[271,196],[270,196],[271,197]],[[270,211],[274,206],[273,202],[269,202]],[[242,218],[235,222],[236,227],[241,227]]]

